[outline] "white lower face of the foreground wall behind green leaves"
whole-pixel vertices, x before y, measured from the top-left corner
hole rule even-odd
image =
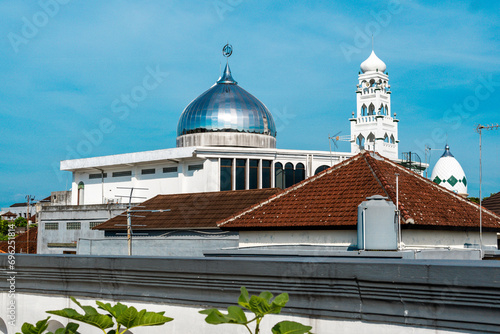
[[[90,305],[97,308],[95,304],[95,299],[93,298],[82,298],[78,297],[77,300],[82,305]],[[9,305],[11,299],[8,296],[8,291],[2,291],[0,293],[0,304]],[[110,299],[99,299],[104,303],[111,303],[111,305],[116,304],[116,300]],[[153,302],[137,302],[137,301],[126,301],[119,300],[119,302],[127,305],[134,306],[138,310],[146,309],[152,312],[165,312],[165,316],[174,318],[173,321],[167,322],[163,326],[150,326],[150,327],[136,327],[132,329],[134,334],[163,334],[163,333],[183,333],[183,334],[221,334],[221,333],[232,333],[232,334],[245,334],[248,330],[244,326],[238,325],[209,325],[205,322],[206,315],[200,314],[199,311],[202,310],[200,307],[196,306],[183,306],[183,305],[172,305],[167,303],[153,303]],[[235,302],[236,303],[236,302]],[[229,305],[227,305],[229,306]],[[227,307],[226,306],[226,307]],[[73,308],[82,312],[82,310],[75,305],[68,297],[61,296],[49,296],[40,294],[28,294],[28,293],[17,293],[16,294],[16,310],[15,310],[15,326],[9,325],[9,314],[7,307],[2,307],[0,309],[0,324],[5,322],[6,332],[8,334],[13,334],[21,331],[21,326],[24,322],[29,322],[35,324],[37,321],[46,319],[48,314],[45,313],[49,310],[62,310],[63,308]],[[223,309],[223,308],[219,308]],[[102,312],[102,311],[101,311]],[[247,313],[247,317],[250,314]],[[250,319],[250,318],[249,318]],[[55,328],[57,327],[57,322],[65,326],[69,321],[76,322],[80,325],[78,331],[80,333],[87,334],[98,334],[102,333],[101,330],[92,327],[87,324],[83,324],[78,321],[69,320],[59,316],[51,315],[51,320]],[[392,324],[382,324],[382,323],[370,323],[368,321],[352,321],[343,319],[317,319],[309,317],[298,317],[298,316],[286,316],[286,315],[267,315],[261,323],[262,333],[271,333],[271,328],[274,324],[283,321],[297,321],[304,325],[312,326],[312,331],[314,333],[337,333],[337,334],[351,334],[351,333],[373,333],[373,334],[400,334],[404,328],[406,333],[412,334],[451,334],[451,333],[463,333],[454,331],[443,331],[433,328],[420,328]],[[250,326],[253,328],[251,324]],[[5,330],[3,330],[5,332]],[[2,328],[0,327],[0,333],[2,333]]]

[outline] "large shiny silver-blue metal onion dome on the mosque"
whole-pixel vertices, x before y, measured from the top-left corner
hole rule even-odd
[[[276,137],[273,116],[262,102],[238,86],[231,76],[229,64],[217,83],[182,112],[177,125],[178,145],[181,136],[207,132]]]

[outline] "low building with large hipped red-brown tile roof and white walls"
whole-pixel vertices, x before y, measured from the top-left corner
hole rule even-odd
[[[373,152],[356,155],[218,226],[238,231],[240,248],[310,245],[362,250],[358,229],[378,223],[368,214],[360,216],[358,206],[373,195],[385,197],[398,209],[399,216],[393,214],[388,223],[395,229],[401,226],[400,250],[497,250],[500,216],[484,210],[480,234],[477,204]],[[366,235],[367,240],[371,237]]]

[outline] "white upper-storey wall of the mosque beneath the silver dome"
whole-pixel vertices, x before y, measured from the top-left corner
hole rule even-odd
[[[185,148],[188,149],[188,148]],[[134,187],[134,203],[142,202],[159,194],[180,194],[193,192],[208,192],[220,190],[220,159],[246,159],[247,160],[247,188],[249,174],[249,159],[271,161],[271,186],[275,186],[275,164],[281,163],[283,168],[291,163],[294,169],[299,164],[305,168],[305,177],[313,176],[318,167],[330,167],[350,158],[351,153],[324,152],[324,151],[298,151],[281,149],[249,149],[239,147],[202,147],[189,148],[191,156],[176,157],[170,151],[178,149],[163,150],[168,159],[160,159],[157,152],[138,152],[137,154],[125,154],[99,158],[63,161],[63,170],[73,172],[72,205],[79,204],[79,193],[83,194],[80,205],[94,205],[106,203],[127,203],[130,190],[119,189]],[[155,153],[155,154],[153,154]],[[144,160],[138,160],[137,156],[144,156]],[[155,160],[148,160],[154,157]],[[159,160],[158,160],[159,159]],[[193,170],[190,166],[203,164],[203,168]],[[81,167],[79,167],[81,166]],[[177,172],[164,173],[164,168],[177,167]],[[143,170],[154,169],[154,174],[144,174]],[[113,173],[127,172],[131,175],[113,177]],[[106,177],[98,177],[104,172]],[[94,175],[90,178],[89,175]],[[259,170],[259,175],[261,171]],[[233,176],[234,178],[234,176]],[[78,189],[83,182],[83,192]],[[262,186],[261,181],[259,185]],[[233,180],[234,186],[234,180]],[[138,189],[147,188],[147,190]]]

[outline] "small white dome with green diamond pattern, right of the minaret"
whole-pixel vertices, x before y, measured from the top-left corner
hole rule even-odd
[[[467,178],[460,163],[445,146],[444,154],[436,162],[432,170],[431,180],[440,186],[457,194],[467,194]]]

